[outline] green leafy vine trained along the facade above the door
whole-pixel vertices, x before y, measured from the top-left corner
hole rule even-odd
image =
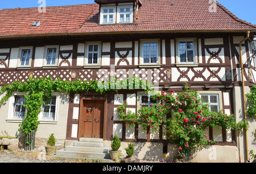
[[[130,80],[133,83],[129,83]],[[5,103],[12,96],[13,92],[25,92],[24,104],[26,108],[26,114],[22,124],[19,124],[19,131],[24,134],[29,134],[32,130],[38,130],[38,115],[41,112],[42,104],[45,104],[45,100],[51,97],[52,92],[65,91],[70,92],[88,92],[89,90],[100,92],[101,94],[108,91],[115,91],[121,88],[133,90],[135,87],[142,88],[146,91],[151,91],[151,85],[147,80],[141,80],[133,77],[127,80],[118,81],[117,79],[109,79],[106,82],[98,82],[98,80],[82,81],[77,79],[76,81],[67,81],[56,79],[52,80],[52,77],[43,78],[30,78],[28,82],[15,81],[13,84],[3,86],[0,89],[0,94],[6,92],[5,96],[0,100],[0,106]],[[131,87],[132,86],[132,87]]]

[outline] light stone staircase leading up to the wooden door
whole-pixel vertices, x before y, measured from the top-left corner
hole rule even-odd
[[[60,159],[100,160],[103,163],[112,163],[109,155],[110,147],[105,147],[101,138],[80,138],[73,146],[65,146],[64,150],[56,150],[55,156]]]

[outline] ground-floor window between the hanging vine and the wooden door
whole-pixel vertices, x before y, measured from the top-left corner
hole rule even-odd
[[[43,105],[43,118],[55,120],[56,96],[47,98],[45,102],[46,103]]]

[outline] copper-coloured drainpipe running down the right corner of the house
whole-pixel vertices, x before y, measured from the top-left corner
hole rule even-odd
[[[243,99],[243,119],[246,120],[246,106],[245,106],[245,81],[243,79],[243,58],[242,58],[242,43],[249,39],[250,31],[247,31],[247,37],[243,39],[240,44],[240,67],[241,67],[241,78],[242,78],[242,99]],[[245,148],[246,148],[246,160],[249,161],[249,151],[248,151],[248,143],[247,143],[247,130],[245,130]],[[239,136],[239,135],[238,135]]]

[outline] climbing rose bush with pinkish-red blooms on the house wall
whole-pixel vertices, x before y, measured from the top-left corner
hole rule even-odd
[[[224,114],[223,111],[211,112],[209,106],[201,100],[198,92],[185,88],[184,91],[169,94],[162,92],[154,96],[159,104],[142,107],[137,113],[127,112],[127,104],[118,107],[118,117],[126,125],[143,125],[150,132],[159,132],[160,126],[166,129],[166,137],[178,144],[177,150],[184,152],[199,147],[212,145],[209,139],[208,128],[221,126],[224,129],[235,129],[236,121],[233,115]]]

